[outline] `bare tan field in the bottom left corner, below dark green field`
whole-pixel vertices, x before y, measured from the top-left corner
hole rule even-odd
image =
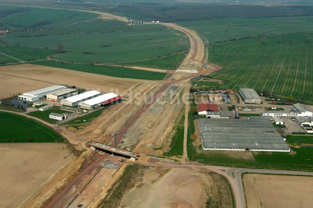
[[[66,144],[0,144],[0,207],[25,207],[74,158]]]

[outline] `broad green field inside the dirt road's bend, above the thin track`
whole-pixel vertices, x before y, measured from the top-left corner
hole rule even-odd
[[[20,47],[43,50],[64,45],[67,53],[50,58],[78,63],[114,63],[162,57],[188,48],[188,41],[175,30],[157,30],[120,33],[91,33],[51,35],[28,38],[5,38],[7,43],[20,43]],[[18,50],[17,47],[14,49]],[[91,54],[85,54],[85,53]],[[45,57],[43,57],[45,58]]]

